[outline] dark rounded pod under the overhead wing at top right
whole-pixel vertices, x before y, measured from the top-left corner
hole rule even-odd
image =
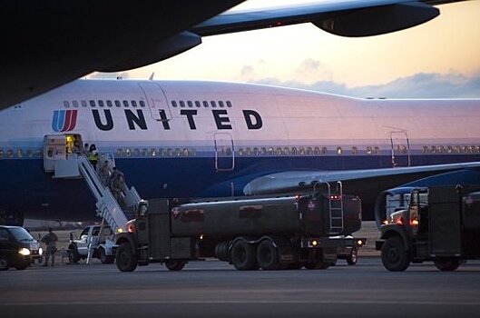
[[[351,10],[314,24],[333,35],[357,37],[400,31],[426,23],[437,15],[440,11],[436,7],[413,2]]]

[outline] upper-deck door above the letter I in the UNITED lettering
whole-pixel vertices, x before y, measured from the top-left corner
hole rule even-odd
[[[147,106],[153,119],[159,122],[171,120],[170,106],[162,87],[153,81],[139,83],[139,86],[145,94]]]

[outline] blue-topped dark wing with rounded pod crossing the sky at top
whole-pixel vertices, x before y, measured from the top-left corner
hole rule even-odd
[[[433,5],[454,2],[459,1],[323,1],[309,5],[226,12],[196,25],[190,31],[201,36],[222,35],[283,25],[313,23],[334,35],[382,35],[423,24],[440,14]]]

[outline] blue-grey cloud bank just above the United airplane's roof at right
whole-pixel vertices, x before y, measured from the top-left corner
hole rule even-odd
[[[264,78],[261,84],[275,84],[301,89],[309,89],[331,94],[344,94],[355,97],[387,98],[478,98],[480,97],[480,74],[465,76],[460,74],[417,73],[399,77],[386,84],[348,87],[333,81],[318,81],[305,84],[299,81],[279,81]]]

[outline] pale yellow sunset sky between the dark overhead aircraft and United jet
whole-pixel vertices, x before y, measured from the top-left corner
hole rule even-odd
[[[318,2],[301,0],[301,3]],[[235,9],[295,5],[248,0]],[[194,79],[277,84],[357,97],[480,97],[480,0],[439,6],[424,25],[348,38],[290,25],[202,38],[168,60],[89,78]]]

